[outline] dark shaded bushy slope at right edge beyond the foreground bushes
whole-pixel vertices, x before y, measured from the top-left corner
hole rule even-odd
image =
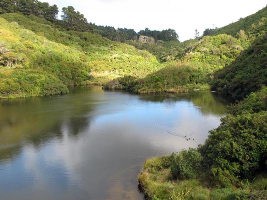
[[[267,34],[258,36],[231,64],[214,73],[211,87],[240,99],[267,83]]]

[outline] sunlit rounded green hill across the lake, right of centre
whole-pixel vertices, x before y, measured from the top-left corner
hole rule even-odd
[[[211,74],[234,61],[244,47],[241,39],[227,34],[204,36],[197,42],[188,42],[180,51],[180,59],[164,62],[164,68],[139,79],[131,90],[147,93],[208,89]]]

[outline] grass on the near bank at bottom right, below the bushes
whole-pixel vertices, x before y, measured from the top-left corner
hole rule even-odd
[[[145,161],[138,182],[147,199],[264,199],[267,195],[267,178],[264,174],[256,177],[253,182],[240,183],[239,188],[209,187],[201,178],[172,179],[169,159],[170,156],[160,156]]]

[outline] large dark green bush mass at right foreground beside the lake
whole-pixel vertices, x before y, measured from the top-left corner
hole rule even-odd
[[[264,170],[267,155],[267,89],[251,93],[210,131],[199,150],[205,171],[221,186],[237,184]],[[256,102],[257,101],[257,102]]]

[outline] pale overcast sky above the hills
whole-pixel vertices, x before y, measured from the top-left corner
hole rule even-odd
[[[139,31],[175,29],[179,40],[194,37],[195,29],[222,27],[266,6],[266,0],[41,0],[72,5],[89,22]]]

